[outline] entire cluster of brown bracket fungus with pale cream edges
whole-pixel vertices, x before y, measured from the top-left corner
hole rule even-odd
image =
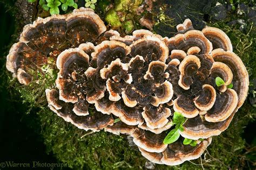
[[[211,137],[227,129],[249,81],[223,31],[194,30],[189,19],[177,30],[171,38],[147,30],[121,37],[106,31],[92,10],[81,8],[26,25],[6,67],[29,84],[29,70],[56,56],[56,88],[46,89],[52,111],[80,129],[129,134],[145,158],[178,165],[200,157]],[[221,86],[217,77],[224,80]],[[177,141],[164,144],[175,111],[186,118],[183,131]],[[196,146],[184,145],[184,138]]]

